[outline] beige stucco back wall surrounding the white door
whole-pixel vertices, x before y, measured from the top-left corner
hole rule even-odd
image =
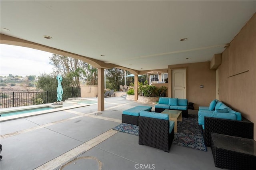
[[[201,63],[188,63],[179,65],[169,65],[168,74],[171,69],[187,69],[187,99],[194,103],[194,108],[199,106],[209,106],[210,102],[216,98],[216,73],[210,69],[210,61]],[[171,83],[171,81],[168,81]],[[204,85],[204,88],[200,88]],[[171,84],[170,86],[171,87]],[[168,88],[168,91],[171,90]]]

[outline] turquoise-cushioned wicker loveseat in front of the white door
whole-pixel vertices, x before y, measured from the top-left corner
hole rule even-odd
[[[165,109],[182,111],[182,117],[188,117],[188,99],[160,97],[155,111],[161,113]]]

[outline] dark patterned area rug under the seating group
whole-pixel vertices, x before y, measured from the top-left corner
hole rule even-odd
[[[113,129],[139,135],[139,127],[136,125],[122,123]],[[178,132],[174,133],[172,144],[207,151],[202,130],[198,125],[198,115],[188,115],[188,118],[182,117],[182,122],[177,123],[177,129]]]

